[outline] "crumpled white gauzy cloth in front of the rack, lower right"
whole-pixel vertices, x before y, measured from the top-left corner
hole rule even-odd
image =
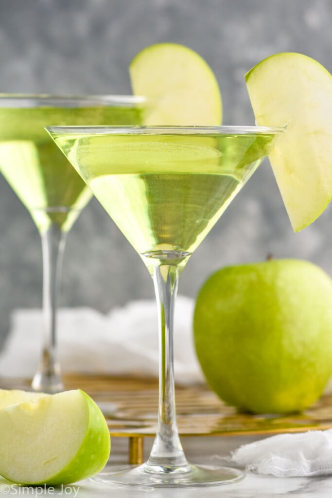
[[[332,429],[277,436],[240,446],[230,461],[276,477],[332,475]]]

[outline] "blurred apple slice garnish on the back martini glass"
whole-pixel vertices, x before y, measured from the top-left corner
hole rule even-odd
[[[139,52],[129,73],[135,95],[144,95],[147,125],[221,124],[221,94],[214,73],[196,52],[159,43]]]

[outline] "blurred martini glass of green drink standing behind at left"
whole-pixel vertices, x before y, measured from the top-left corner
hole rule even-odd
[[[140,102],[130,96],[0,94],[0,172],[28,209],[42,241],[44,330],[35,390],[63,390],[56,351],[62,254],[68,231],[92,196],[44,126],[139,124]]]

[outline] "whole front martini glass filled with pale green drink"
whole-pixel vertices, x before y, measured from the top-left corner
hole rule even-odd
[[[95,479],[133,486],[208,486],[243,477],[188,463],[174,398],[173,312],[189,257],[270,151],[281,128],[57,127],[57,145],[150,272],[159,315],[159,414],[146,463],[110,466]]]

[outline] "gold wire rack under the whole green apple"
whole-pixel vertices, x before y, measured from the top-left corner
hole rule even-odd
[[[65,375],[66,389],[81,388],[101,406],[111,437],[128,438],[129,463],[143,460],[144,438],[156,433],[158,382],[146,378],[107,375]],[[29,388],[28,379],[0,382],[3,388]],[[226,436],[301,432],[332,428],[332,395],[323,396],[303,413],[253,415],[239,413],[199,384],[176,387],[180,436]]]

